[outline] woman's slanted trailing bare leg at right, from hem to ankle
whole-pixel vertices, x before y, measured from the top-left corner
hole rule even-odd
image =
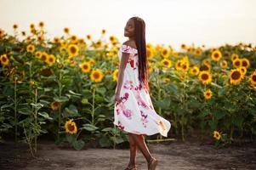
[[[151,156],[151,153],[148,149],[148,147],[145,144],[145,138],[143,135],[139,134],[131,134],[131,136],[134,138],[135,143],[139,147],[139,150],[142,152],[142,154],[145,156],[145,159],[147,162],[150,162],[153,157]]]

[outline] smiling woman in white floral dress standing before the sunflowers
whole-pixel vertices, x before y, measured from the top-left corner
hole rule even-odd
[[[156,169],[158,160],[151,156],[145,144],[145,135],[161,133],[167,137],[171,123],[156,114],[147,82],[145,22],[132,17],[124,28],[128,41],[122,44],[118,57],[117,88],[115,94],[114,124],[129,135],[130,161],[125,170],[136,170],[137,147],[145,156],[148,169]]]

